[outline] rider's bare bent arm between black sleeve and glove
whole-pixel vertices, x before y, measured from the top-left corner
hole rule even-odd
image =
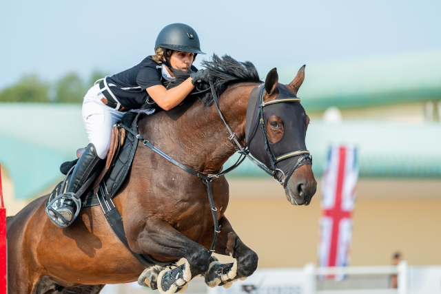
[[[156,104],[164,110],[170,110],[181,104],[181,102],[192,92],[194,85],[192,78],[187,78],[181,85],[167,90],[163,85],[154,85],[145,89]]]

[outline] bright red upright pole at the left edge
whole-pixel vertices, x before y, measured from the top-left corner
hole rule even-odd
[[[8,293],[8,251],[6,242],[6,208],[3,204],[3,189],[1,187],[0,165],[0,294]]]

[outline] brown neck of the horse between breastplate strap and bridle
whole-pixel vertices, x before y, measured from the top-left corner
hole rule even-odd
[[[248,96],[255,86],[250,83],[234,85],[219,98],[220,110],[242,146],[245,145]],[[219,172],[236,148],[228,140],[229,132],[216,105],[205,107],[203,101],[196,101],[189,109],[185,109],[185,105],[182,107],[149,122],[147,138],[152,138],[148,133],[154,132],[152,143],[187,167],[204,174]],[[161,129],[159,134],[158,129]]]

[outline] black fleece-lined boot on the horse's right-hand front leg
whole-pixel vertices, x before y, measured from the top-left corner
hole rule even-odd
[[[229,288],[232,282],[236,281],[237,261],[223,264],[218,261],[211,262],[207,273],[205,273],[205,284],[210,288],[224,286]]]

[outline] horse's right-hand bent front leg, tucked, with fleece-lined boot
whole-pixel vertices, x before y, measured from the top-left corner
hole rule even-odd
[[[236,262],[221,264],[212,258],[205,273],[205,283],[211,287],[222,285],[227,288],[235,280],[245,280],[256,271],[258,256],[240,240],[225,216],[219,220],[219,224],[221,230],[215,252],[232,256]]]

